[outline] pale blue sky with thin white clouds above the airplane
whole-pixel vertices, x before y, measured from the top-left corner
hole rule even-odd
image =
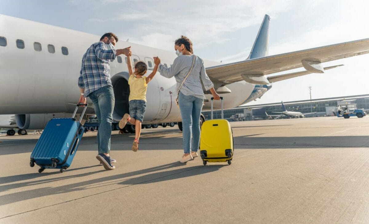
[[[271,17],[269,55],[369,38],[363,0],[0,0],[0,14],[173,51],[186,35],[194,54],[223,63],[245,60],[265,14]],[[369,54],[324,63],[324,74],[273,83],[255,105],[369,94]],[[295,69],[283,73],[303,71]],[[283,74],[282,73],[282,74]]]

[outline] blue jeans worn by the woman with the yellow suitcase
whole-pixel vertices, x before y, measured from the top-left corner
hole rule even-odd
[[[203,101],[203,99],[195,96],[186,96],[179,92],[178,103],[182,117],[184,153],[197,152],[199,149],[200,115]]]

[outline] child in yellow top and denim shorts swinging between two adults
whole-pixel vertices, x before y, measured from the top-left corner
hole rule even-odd
[[[135,125],[136,136],[133,141],[132,151],[137,152],[138,150],[138,140],[141,134],[141,123],[144,119],[144,113],[146,111],[146,90],[147,84],[154,78],[156,71],[158,70],[158,65],[160,60],[158,57],[154,57],[155,67],[154,70],[148,77],[144,75],[147,72],[147,65],[143,61],[138,61],[135,64],[135,72],[132,71],[131,57],[127,57],[128,72],[130,73],[130,78],[128,79],[128,85],[130,85],[130,114],[126,113],[119,122],[119,128],[123,129],[127,122]]]

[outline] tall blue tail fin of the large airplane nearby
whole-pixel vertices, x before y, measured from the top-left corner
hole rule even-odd
[[[247,59],[261,58],[261,57],[268,56],[269,21],[270,21],[270,17],[268,15],[265,15],[263,23],[260,26],[259,33],[256,36],[254,46],[252,46],[250,55]]]

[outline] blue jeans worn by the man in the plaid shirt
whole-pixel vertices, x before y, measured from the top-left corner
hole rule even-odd
[[[97,131],[97,149],[99,153],[110,152],[111,123],[113,122],[114,91],[111,86],[104,86],[92,93],[89,98],[93,102],[99,130]]]

